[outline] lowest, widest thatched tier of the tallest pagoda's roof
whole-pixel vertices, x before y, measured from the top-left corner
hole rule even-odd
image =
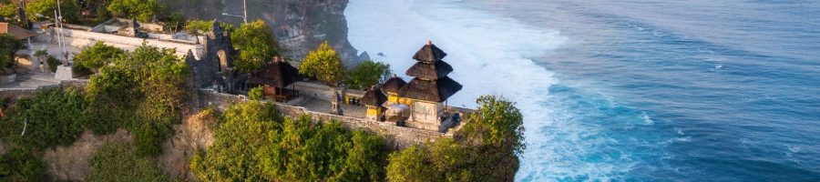
[[[407,86],[402,87],[399,96],[417,100],[444,102],[447,98],[460,91],[461,87],[461,84],[458,84],[458,82],[447,76],[438,78],[437,80],[413,78]]]

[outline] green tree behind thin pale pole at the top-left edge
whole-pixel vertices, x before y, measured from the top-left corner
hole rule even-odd
[[[43,16],[56,18],[54,11],[57,10],[56,0],[37,0],[26,4],[26,16],[33,21],[54,21]],[[79,5],[77,0],[60,0],[60,13],[62,13],[63,21],[68,23],[77,23],[77,14],[79,13]]]

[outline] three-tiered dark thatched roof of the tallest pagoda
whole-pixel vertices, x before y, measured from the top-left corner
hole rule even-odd
[[[427,41],[427,45],[413,56],[418,63],[407,69],[407,76],[415,76],[415,78],[401,88],[399,96],[444,102],[460,91],[461,84],[447,76],[453,72],[453,66],[441,60],[445,56],[447,54],[444,51]]]

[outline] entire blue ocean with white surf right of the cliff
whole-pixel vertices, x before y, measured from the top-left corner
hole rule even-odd
[[[524,113],[517,181],[820,181],[820,2],[351,0],[404,75],[426,40]]]

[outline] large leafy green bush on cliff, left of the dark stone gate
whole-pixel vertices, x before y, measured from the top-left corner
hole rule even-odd
[[[135,135],[138,154],[159,154],[159,142],[179,122],[188,96],[189,67],[172,49],[142,45],[114,59],[91,76],[87,86],[89,115],[95,132],[108,133],[119,126]]]

